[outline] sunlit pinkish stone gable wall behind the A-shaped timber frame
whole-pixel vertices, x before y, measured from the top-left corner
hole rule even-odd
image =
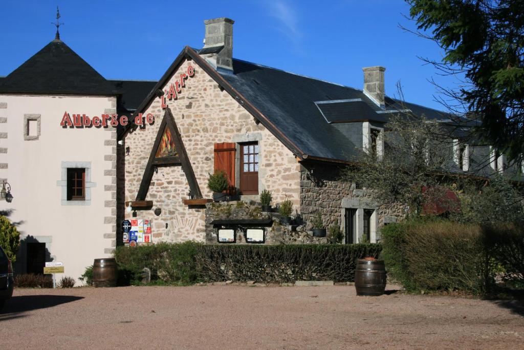
[[[293,154],[250,115],[233,97],[209,77],[193,61],[184,61],[163,90],[179,79],[192,65],[193,77],[185,80],[178,99],[167,103],[178,125],[189,161],[204,198],[211,198],[207,188],[213,173],[214,143],[241,142],[255,137],[259,143],[259,191],[272,192],[274,203],[286,198],[300,206],[300,166]],[[129,147],[125,156],[125,200],[135,200],[152,144],[164,115],[160,99],[156,98],[145,113],[155,115],[155,123],[138,128],[125,138]],[[145,114],[144,114],[145,115]],[[237,184],[238,186],[238,184]],[[182,200],[188,198],[189,185],[180,166],[159,167],[154,173],[146,199],[153,201],[150,210],[139,210],[138,218],[152,220],[153,242],[205,240],[204,209],[188,208]],[[154,209],[161,208],[160,216]],[[125,213],[127,219],[131,213]]]

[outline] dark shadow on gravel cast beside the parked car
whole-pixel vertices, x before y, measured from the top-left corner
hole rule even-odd
[[[25,315],[20,314],[25,311],[45,309],[46,307],[70,303],[72,301],[77,301],[80,299],[84,299],[84,297],[72,295],[13,296],[13,298],[6,301],[3,309],[0,310],[0,321],[25,317]]]

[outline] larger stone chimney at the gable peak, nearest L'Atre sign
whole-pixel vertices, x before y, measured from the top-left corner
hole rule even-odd
[[[233,23],[225,17],[204,20],[204,47],[200,50],[216,70],[227,73],[233,72]]]

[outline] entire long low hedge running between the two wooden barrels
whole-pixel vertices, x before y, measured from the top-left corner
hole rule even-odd
[[[353,281],[356,259],[378,257],[379,244],[356,245],[203,245],[196,242],[118,247],[120,284],[138,284],[144,268],[152,283],[196,281],[293,282]]]

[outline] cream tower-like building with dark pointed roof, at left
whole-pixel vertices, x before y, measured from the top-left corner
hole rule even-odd
[[[106,80],[58,31],[0,78],[0,211],[20,232],[16,273],[42,273],[46,262],[58,261],[77,278],[93,259],[111,256],[118,130],[92,122],[130,115],[154,84]],[[78,126],[61,125],[66,113]]]

